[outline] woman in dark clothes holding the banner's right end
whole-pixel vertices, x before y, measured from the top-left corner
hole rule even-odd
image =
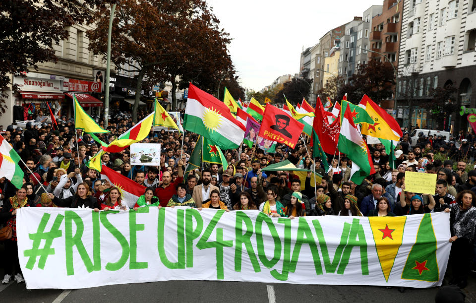
[[[460,288],[468,285],[467,277],[473,258],[473,241],[476,224],[476,196],[471,190],[463,190],[456,197],[456,203],[450,204],[445,212],[450,213],[450,230],[452,237],[450,260],[453,280]]]

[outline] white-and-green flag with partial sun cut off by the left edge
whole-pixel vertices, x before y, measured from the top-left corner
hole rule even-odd
[[[20,156],[0,135],[0,178],[5,177],[16,188],[21,188],[24,174],[18,162],[20,162]]]

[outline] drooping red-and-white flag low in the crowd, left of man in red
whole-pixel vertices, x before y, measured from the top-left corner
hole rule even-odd
[[[119,188],[122,201],[127,203],[129,208],[133,208],[135,202],[137,202],[139,197],[145,192],[145,186],[137,184],[129,178],[122,176],[106,165],[102,166],[101,179],[106,179],[111,183],[111,185]]]

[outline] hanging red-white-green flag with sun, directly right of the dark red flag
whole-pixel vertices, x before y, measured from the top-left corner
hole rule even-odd
[[[347,107],[342,120],[337,147],[341,153],[347,154],[349,159],[352,160],[351,180],[353,182],[360,184],[365,177],[375,174],[368,146],[360,136],[357,126],[352,120],[352,113],[349,107]]]

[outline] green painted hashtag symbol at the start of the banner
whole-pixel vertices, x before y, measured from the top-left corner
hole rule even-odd
[[[63,215],[57,215],[55,222],[51,228],[50,232],[45,233],[45,227],[50,221],[50,214],[44,213],[43,217],[41,218],[40,225],[38,225],[38,230],[36,233],[29,234],[30,240],[33,240],[33,246],[31,249],[25,249],[23,251],[23,255],[28,258],[28,262],[26,263],[26,268],[33,269],[35,266],[35,262],[38,256],[40,256],[40,260],[38,261],[38,268],[44,269],[46,259],[49,255],[55,254],[55,248],[51,247],[53,240],[55,238],[61,237],[60,231],[60,224],[63,221]],[[41,241],[45,240],[45,246],[40,248]]]

